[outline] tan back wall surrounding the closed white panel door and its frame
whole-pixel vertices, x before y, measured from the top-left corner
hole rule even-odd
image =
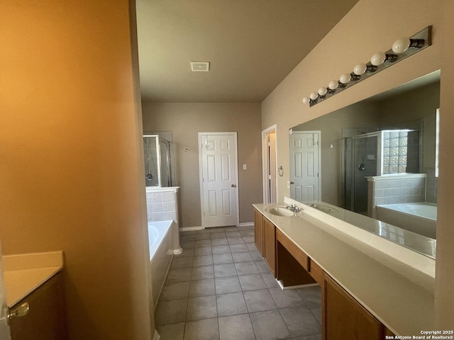
[[[144,131],[173,131],[181,227],[201,226],[198,132],[238,132],[240,223],[253,222],[252,204],[263,200],[260,103],[142,105]]]

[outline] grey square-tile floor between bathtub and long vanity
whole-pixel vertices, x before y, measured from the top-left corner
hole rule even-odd
[[[155,315],[162,340],[321,340],[321,289],[281,290],[253,227],[182,232]]]

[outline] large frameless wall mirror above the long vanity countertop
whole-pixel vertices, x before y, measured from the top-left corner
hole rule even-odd
[[[436,239],[439,103],[433,72],[293,127],[291,197]]]

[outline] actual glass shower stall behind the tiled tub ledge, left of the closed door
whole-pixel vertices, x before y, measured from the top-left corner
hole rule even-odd
[[[172,186],[170,142],[159,135],[144,135],[143,151],[146,186]]]

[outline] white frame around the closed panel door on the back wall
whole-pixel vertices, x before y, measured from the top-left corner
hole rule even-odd
[[[236,226],[240,225],[240,199],[238,195],[239,190],[239,178],[238,178],[238,138],[237,132],[199,132],[197,144],[199,144],[199,188],[200,188],[200,219],[201,219],[201,227],[205,229],[204,226],[204,181],[203,181],[203,167],[202,167],[202,157],[201,157],[201,149],[204,145],[201,145],[201,136],[202,135],[233,135],[233,143],[234,143],[234,156],[233,156],[233,163],[235,168],[235,177],[236,177],[236,191],[235,191],[235,199],[236,199]]]

